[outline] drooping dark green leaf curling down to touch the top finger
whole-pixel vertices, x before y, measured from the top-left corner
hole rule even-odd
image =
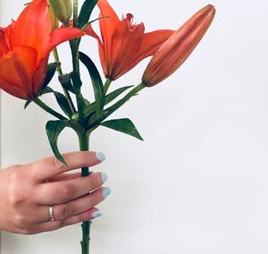
[[[49,121],[46,123],[46,135],[49,140],[50,146],[54,152],[54,156],[66,165],[61,153],[58,149],[58,138],[65,127],[67,127],[68,121]]]

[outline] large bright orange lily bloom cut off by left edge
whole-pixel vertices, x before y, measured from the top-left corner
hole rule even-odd
[[[52,30],[46,0],[32,1],[17,21],[0,29],[0,89],[22,99],[37,97],[50,52],[83,35],[73,28]]]

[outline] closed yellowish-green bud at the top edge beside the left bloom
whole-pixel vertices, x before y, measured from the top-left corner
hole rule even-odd
[[[47,0],[56,18],[68,26],[71,19],[71,0]]]

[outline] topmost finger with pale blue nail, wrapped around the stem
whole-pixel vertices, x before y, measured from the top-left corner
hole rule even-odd
[[[56,157],[47,157],[31,163],[31,171],[38,181],[45,181],[64,172],[97,165],[105,160],[105,155],[99,152],[82,151],[63,154],[67,165],[64,165]]]

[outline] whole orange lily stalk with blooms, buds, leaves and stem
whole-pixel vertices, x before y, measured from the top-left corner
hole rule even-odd
[[[96,7],[100,14],[92,18]],[[16,21],[0,29],[0,89],[25,100],[25,108],[35,103],[54,117],[46,123],[46,134],[54,156],[63,164],[57,140],[65,128],[76,132],[81,151],[89,149],[90,135],[99,126],[143,140],[129,118],[109,117],[131,97],[175,72],[205,35],[214,13],[214,6],[209,4],[179,30],[145,32],[145,25],[136,24],[132,14],[120,19],[106,0],[85,0],[80,9],[78,0],[33,0]],[[99,31],[93,30],[93,22],[99,23]],[[87,36],[98,44],[105,82],[90,55],[80,52],[83,37]],[[63,70],[56,49],[66,41],[71,49],[71,72]],[[52,63],[48,63],[50,55],[54,56]],[[114,81],[148,56],[152,58],[138,85],[110,91]],[[80,64],[88,70],[94,101],[88,101],[82,93],[88,80],[81,79]],[[61,91],[53,87],[54,75],[58,76]],[[45,94],[54,97],[57,110],[44,103],[41,97]],[[88,174],[88,167],[81,169],[82,176]],[[82,223],[82,254],[89,253],[90,224]]]

